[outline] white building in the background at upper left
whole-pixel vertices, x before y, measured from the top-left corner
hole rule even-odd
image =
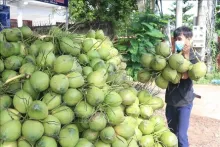
[[[3,0],[0,0],[3,4]],[[36,0],[6,0],[10,7],[11,27],[55,25],[66,22],[66,8]]]

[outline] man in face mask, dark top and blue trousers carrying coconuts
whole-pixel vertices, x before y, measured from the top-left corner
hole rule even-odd
[[[192,30],[185,26],[174,31],[176,52],[182,52],[184,58],[195,64],[197,59],[191,48],[192,36]],[[178,84],[169,83],[166,89],[166,118],[169,128],[178,137],[179,147],[189,147],[187,131],[194,97],[193,82],[187,72],[182,74]]]

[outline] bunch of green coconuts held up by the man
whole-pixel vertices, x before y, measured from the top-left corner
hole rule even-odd
[[[155,80],[155,84],[162,89],[166,89],[169,82],[178,84],[185,72],[195,81],[204,77],[207,72],[204,62],[192,64],[181,52],[171,53],[166,42],[160,42],[154,53],[143,54],[140,62],[143,69],[138,73],[138,81],[147,83]]]

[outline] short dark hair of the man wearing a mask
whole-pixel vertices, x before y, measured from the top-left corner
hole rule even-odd
[[[192,30],[186,26],[182,26],[174,30],[173,32],[174,39],[176,39],[181,34],[183,34],[183,36],[185,36],[186,38],[192,38],[193,36]]]

